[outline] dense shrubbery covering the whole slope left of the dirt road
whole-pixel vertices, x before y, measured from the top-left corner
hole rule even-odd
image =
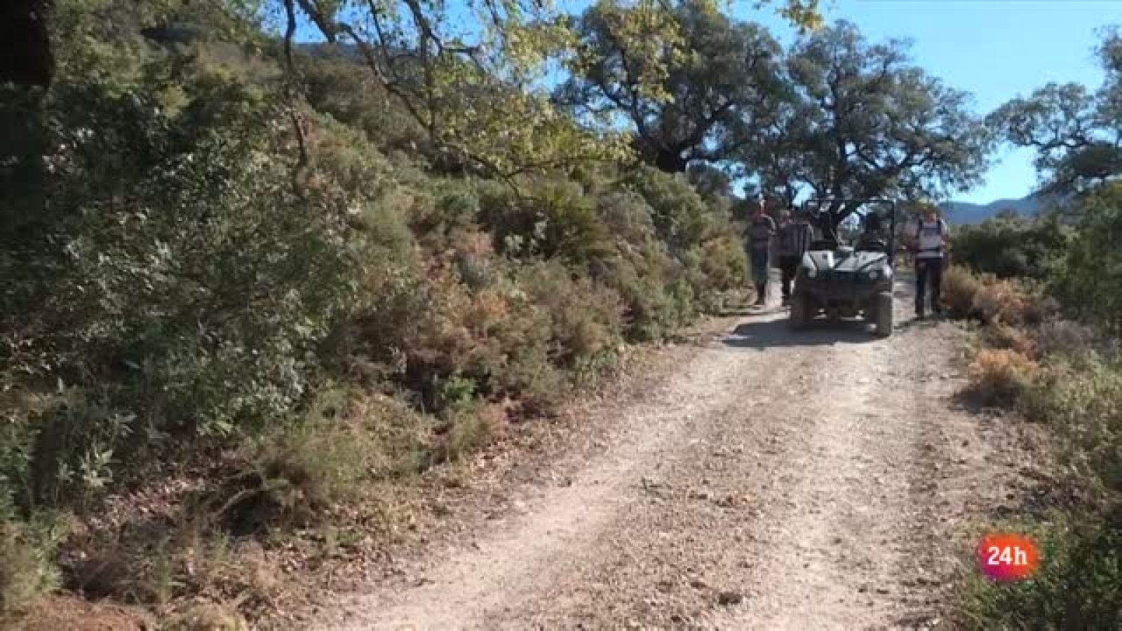
[[[61,579],[91,595],[200,587],[224,533],[314,524],[460,458],[744,283],[730,201],[683,175],[482,177],[346,56],[303,60],[293,102],[276,60],[136,34],[117,55],[99,38],[125,27],[102,26],[63,43],[42,98],[0,92],[18,140],[0,158],[0,610],[57,583],[59,543],[85,559]],[[205,482],[174,515],[56,528],[185,470]]]

